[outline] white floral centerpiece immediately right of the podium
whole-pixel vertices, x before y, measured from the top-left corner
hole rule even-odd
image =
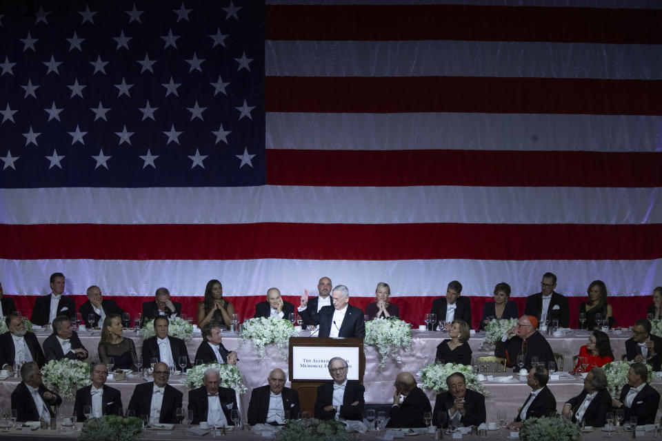
[[[397,318],[376,318],[365,323],[365,345],[379,352],[379,367],[384,369],[387,358],[398,363],[401,354],[412,350],[412,328]]]

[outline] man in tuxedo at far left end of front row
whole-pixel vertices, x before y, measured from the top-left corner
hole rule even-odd
[[[12,409],[17,410],[17,421],[50,422],[55,418],[51,406],[62,404],[62,398],[41,384],[41,371],[35,362],[21,367],[21,381],[12,392]]]

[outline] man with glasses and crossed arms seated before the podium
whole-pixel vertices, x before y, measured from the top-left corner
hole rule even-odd
[[[317,387],[315,418],[319,420],[363,420],[365,387],[358,381],[348,381],[347,362],[340,357],[329,360],[332,383]]]

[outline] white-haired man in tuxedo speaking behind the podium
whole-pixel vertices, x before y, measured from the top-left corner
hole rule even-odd
[[[320,337],[365,337],[363,310],[349,305],[350,291],[338,285],[331,292],[333,307],[325,306],[319,311]]]

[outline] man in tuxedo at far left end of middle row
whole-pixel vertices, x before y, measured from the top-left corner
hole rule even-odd
[[[34,361],[37,367],[46,362],[39,340],[32,332],[28,332],[23,319],[17,314],[5,317],[6,333],[0,335],[0,366],[8,371],[14,370],[14,363]]]

